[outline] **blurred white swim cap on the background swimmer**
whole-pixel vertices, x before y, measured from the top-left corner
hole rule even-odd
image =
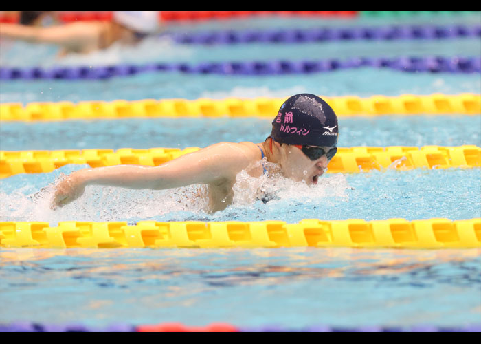
[[[159,28],[159,11],[114,11],[113,20],[142,34]]]

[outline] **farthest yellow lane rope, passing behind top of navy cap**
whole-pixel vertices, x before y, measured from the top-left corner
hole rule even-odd
[[[390,114],[481,114],[480,94],[430,94],[418,96],[340,96],[323,98],[338,116],[382,116]],[[80,103],[3,103],[1,121],[67,120],[93,118],[155,118],[155,117],[216,117],[258,116],[273,118],[285,98],[225,98],[214,100],[144,99],[113,100]]]

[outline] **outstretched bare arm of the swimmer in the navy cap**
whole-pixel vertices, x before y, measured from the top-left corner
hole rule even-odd
[[[76,200],[88,185],[151,190],[190,184],[220,185],[235,180],[237,173],[249,163],[245,149],[223,142],[155,167],[118,165],[82,169],[56,185],[52,206],[64,206]]]

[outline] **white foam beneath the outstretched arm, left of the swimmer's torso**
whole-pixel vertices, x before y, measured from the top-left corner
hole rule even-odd
[[[25,188],[30,189],[30,186]],[[50,224],[72,220],[128,221],[176,211],[201,213],[206,205],[203,197],[197,197],[203,192],[203,187],[195,185],[164,191],[87,186],[85,193],[77,200],[56,209],[51,208],[54,183],[33,195],[25,195],[22,191],[25,190],[0,193],[0,221],[41,221]]]

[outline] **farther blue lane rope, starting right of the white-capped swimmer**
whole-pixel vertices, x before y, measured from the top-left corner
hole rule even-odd
[[[203,32],[165,32],[180,44],[315,43],[326,41],[396,41],[480,37],[481,25],[388,25]]]

